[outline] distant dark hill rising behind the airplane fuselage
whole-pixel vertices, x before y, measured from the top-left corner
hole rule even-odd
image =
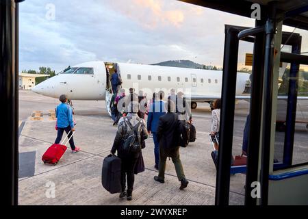
[[[216,66],[207,66],[204,64],[198,64],[196,62],[192,62],[190,60],[170,60],[166,62],[159,62],[156,64],[152,64],[154,66],[170,66],[170,67],[178,67],[178,68],[199,68],[199,69],[213,69],[217,70]]]

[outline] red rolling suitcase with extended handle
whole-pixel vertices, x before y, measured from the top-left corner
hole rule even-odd
[[[70,132],[68,132],[69,134]],[[75,131],[73,131],[73,134],[70,136],[70,138],[73,137]],[[70,138],[68,138],[68,134],[64,138],[64,140],[61,142],[61,144],[52,144],[49,149],[42,155],[42,161],[44,164],[57,164],[61,157],[64,155],[67,147],[66,144],[69,142]],[[63,142],[68,138],[66,144],[63,144]]]

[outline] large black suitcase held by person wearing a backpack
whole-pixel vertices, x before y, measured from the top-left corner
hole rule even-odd
[[[115,155],[108,155],[103,161],[101,183],[111,194],[121,192],[121,159]]]

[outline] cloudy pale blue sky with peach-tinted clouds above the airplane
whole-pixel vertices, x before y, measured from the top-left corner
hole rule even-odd
[[[175,0],[27,0],[20,4],[20,69],[60,72],[97,60],[222,67],[225,24],[253,27],[255,20]],[[295,32],[308,51],[308,31]],[[240,42],[239,68],[252,52],[253,44]]]

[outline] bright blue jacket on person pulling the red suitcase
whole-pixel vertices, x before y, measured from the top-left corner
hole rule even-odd
[[[57,117],[57,127],[66,128],[70,126],[70,128],[73,129],[74,120],[72,107],[66,103],[60,103],[60,105],[57,106],[55,117]]]

